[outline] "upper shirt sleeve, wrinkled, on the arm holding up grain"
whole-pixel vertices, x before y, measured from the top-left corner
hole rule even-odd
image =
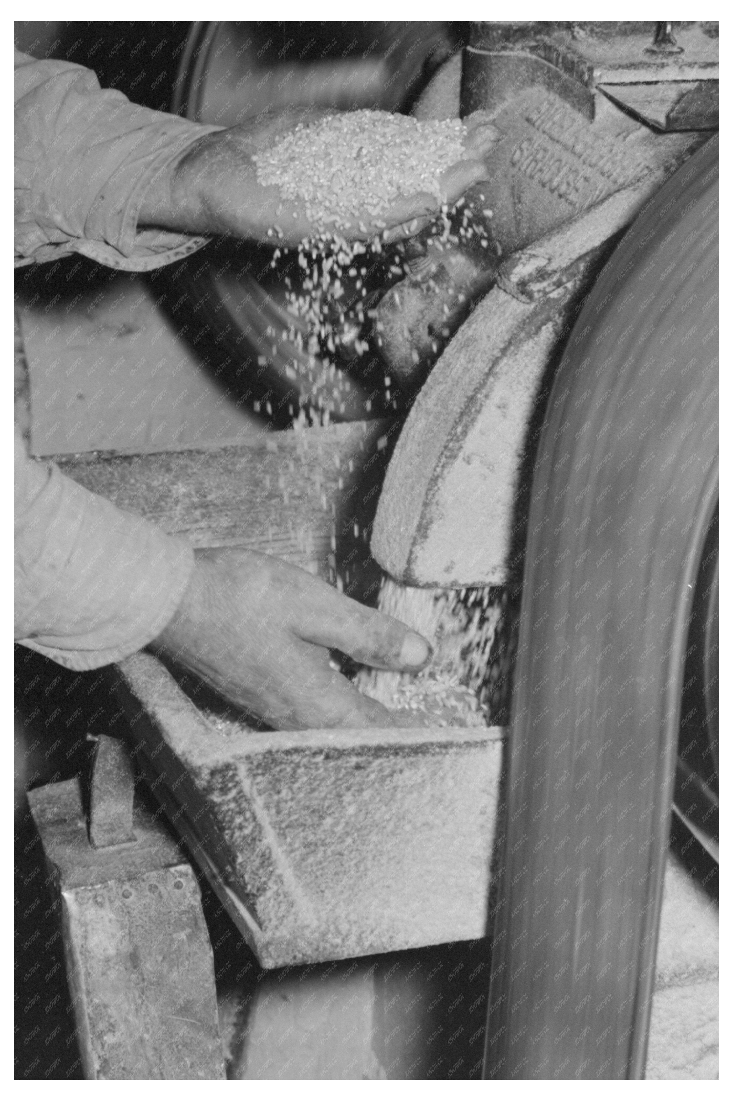
[[[81,65],[15,51],[15,265],[80,252],[147,271],[208,238],[139,228],[155,177],[222,127],[201,126],[102,90]]]

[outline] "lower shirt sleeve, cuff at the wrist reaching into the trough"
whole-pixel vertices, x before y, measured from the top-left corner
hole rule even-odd
[[[121,661],[168,624],[193,547],[29,458],[15,429],[15,641],[70,669]]]

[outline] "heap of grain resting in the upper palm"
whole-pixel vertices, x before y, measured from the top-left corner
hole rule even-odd
[[[253,156],[258,181],[305,203],[316,225],[348,227],[378,218],[396,198],[427,192],[463,155],[460,119],[424,120],[389,111],[348,111],[299,122],[272,149]]]

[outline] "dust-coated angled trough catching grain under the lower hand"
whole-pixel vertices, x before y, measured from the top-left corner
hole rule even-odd
[[[120,669],[138,760],[263,966],[485,935],[502,730],[223,735],[155,658]]]

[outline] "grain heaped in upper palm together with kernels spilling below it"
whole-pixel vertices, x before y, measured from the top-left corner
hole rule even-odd
[[[347,363],[368,356],[364,362],[371,370],[381,362],[381,326],[373,307],[406,269],[404,246],[383,246],[384,233],[380,237],[379,230],[385,229],[385,222],[380,215],[401,196],[427,193],[439,200],[439,177],[464,155],[466,134],[460,119],[418,120],[389,111],[357,110],[298,123],[271,149],[253,155],[259,182],[277,185],[284,198],[299,199],[318,227],[297,247],[299,273],[295,282],[284,279],[286,309],[293,321],[281,331],[274,326],[267,331],[273,355],[278,345],[296,350],[286,374],[298,380],[298,401],[307,407],[313,423],[328,424],[331,413],[344,413],[351,389]],[[457,214],[459,207],[462,209]],[[444,203],[433,221],[429,233],[438,249],[474,235],[489,247],[485,217],[491,217],[491,211],[479,215],[459,199],[452,215],[451,221]],[[364,242],[347,241],[347,229],[359,228],[366,235],[362,217],[372,220],[376,236]],[[412,222],[411,231],[416,228],[417,221]],[[284,237],[278,226],[269,232]],[[277,268],[288,252],[287,247],[277,247],[272,266]],[[382,260],[380,291],[371,273]],[[258,362],[266,366],[264,351]],[[378,399],[384,412],[396,408],[390,388],[385,375],[384,394]],[[369,399],[368,412],[371,405]],[[297,413],[293,410],[292,415],[296,426],[308,423],[303,408]]]

